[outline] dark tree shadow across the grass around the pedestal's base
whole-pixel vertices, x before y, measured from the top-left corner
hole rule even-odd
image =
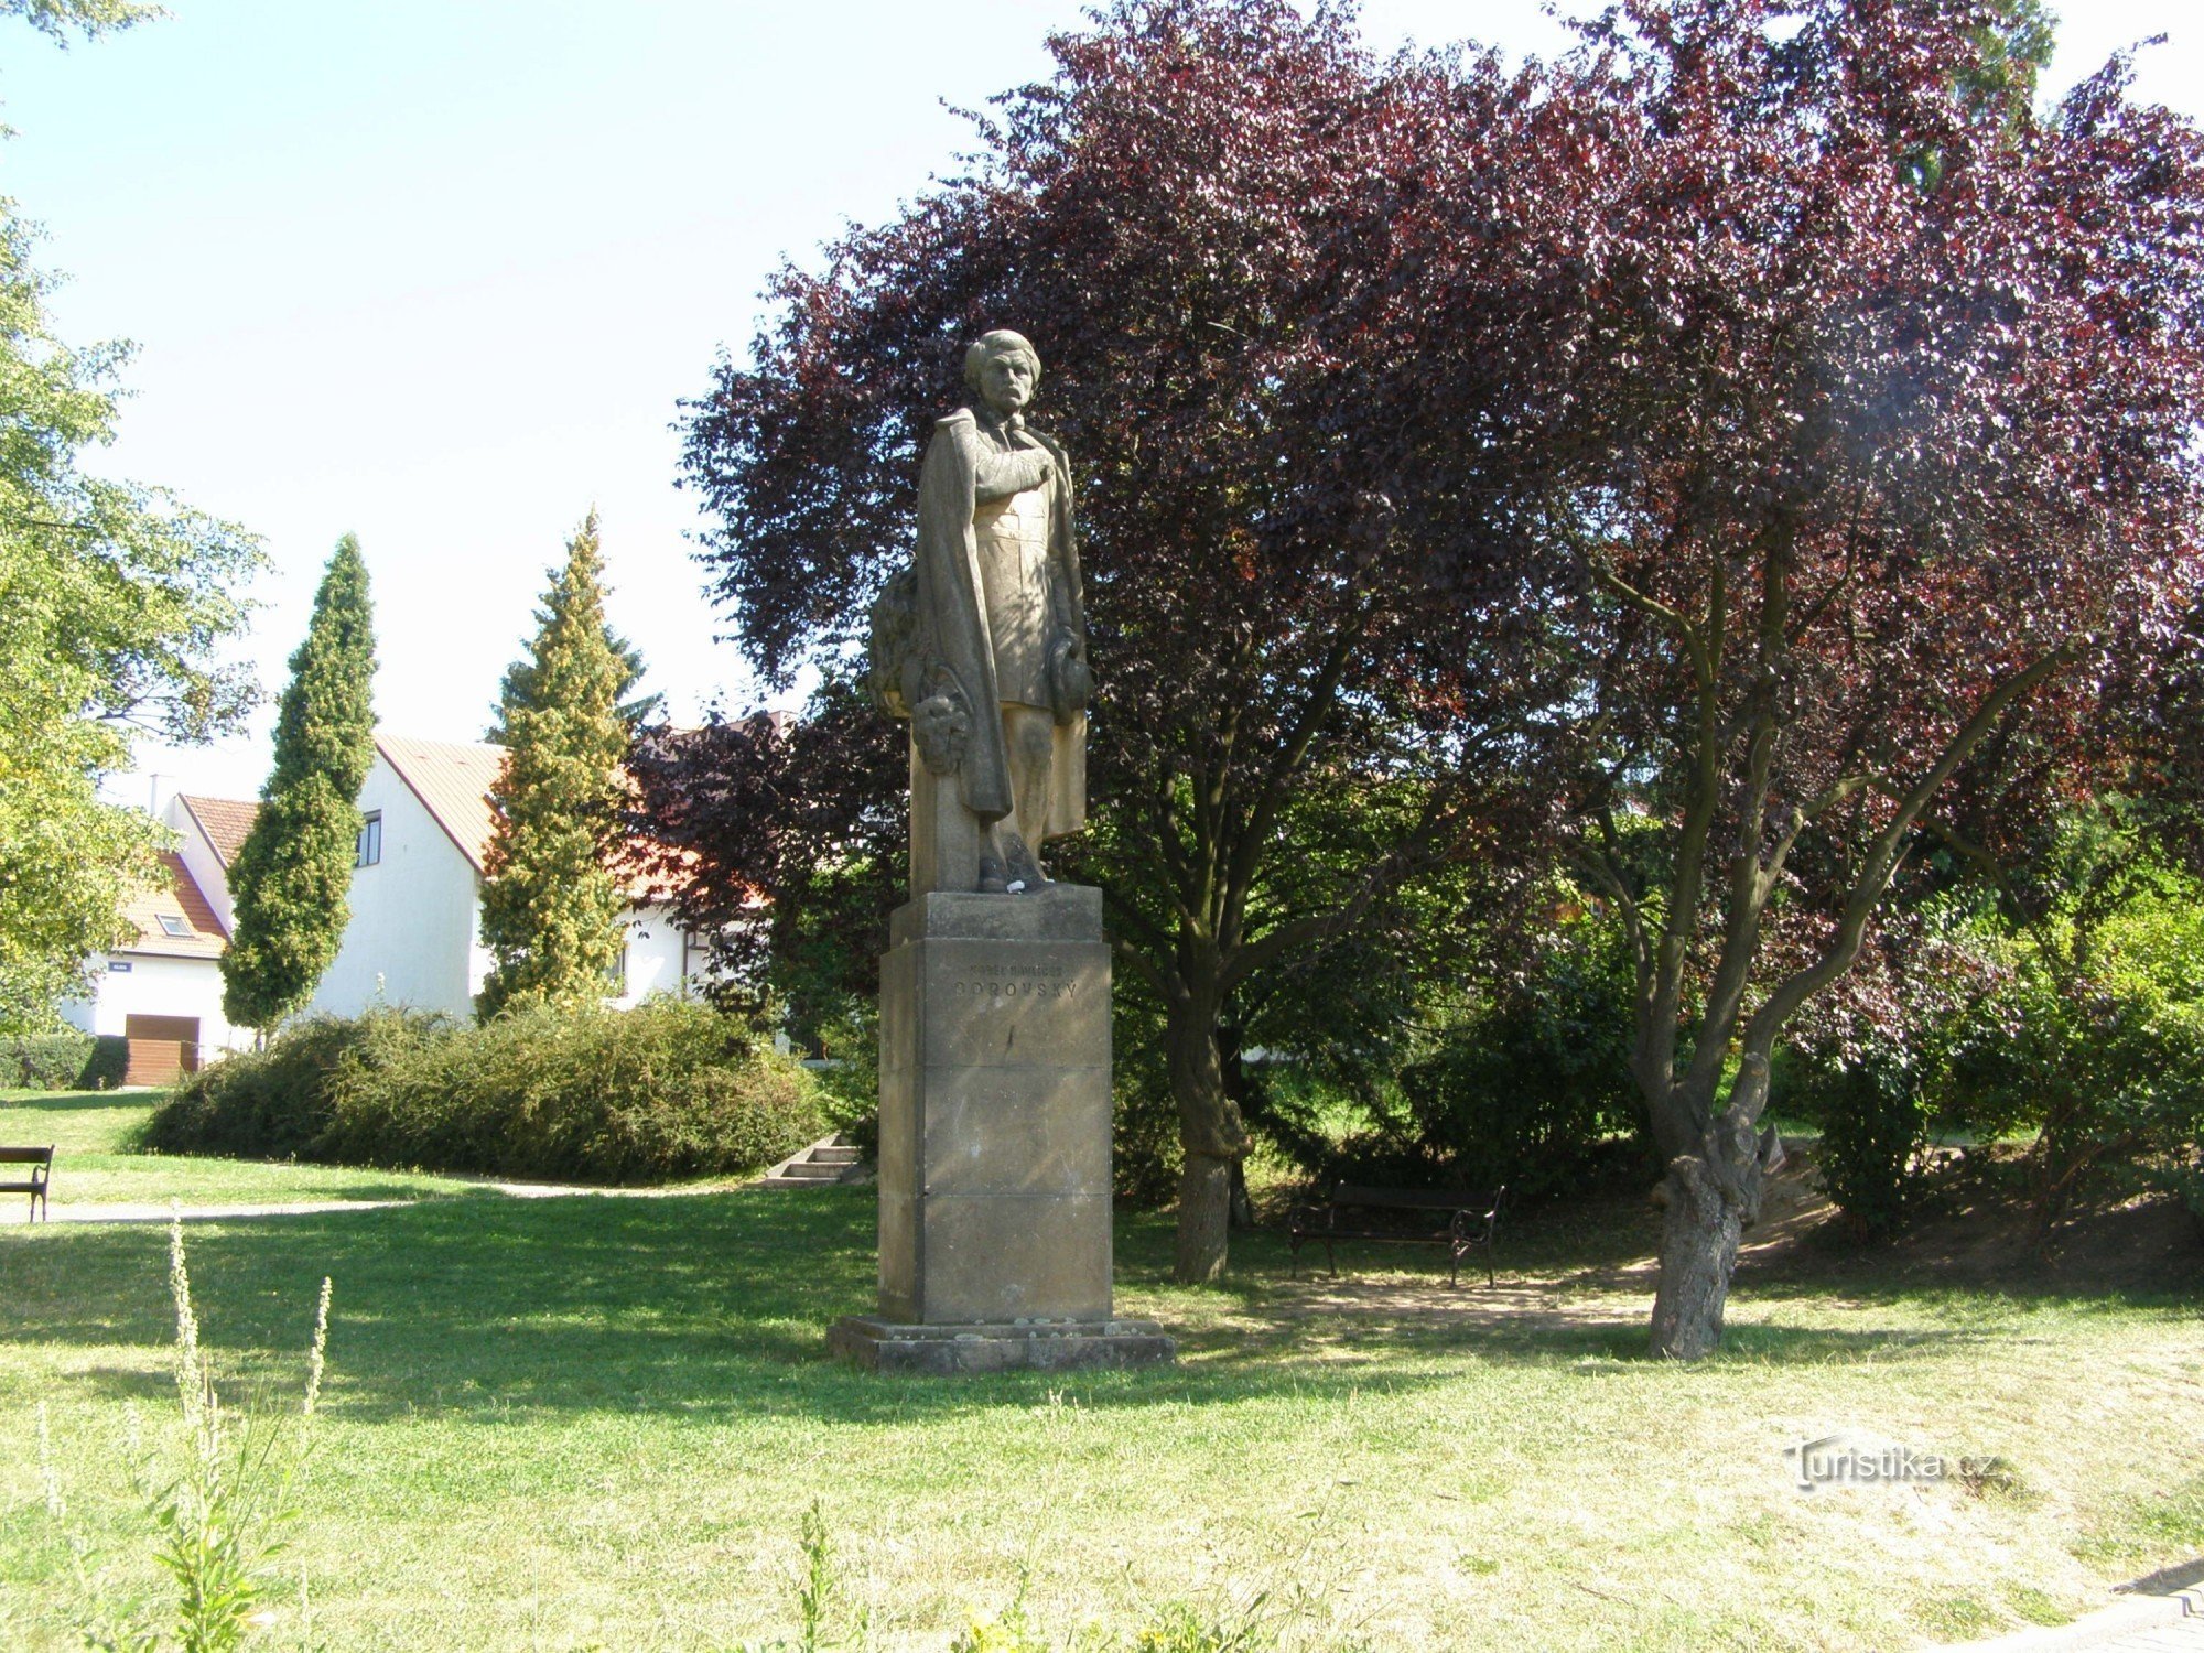
[[[165,1232],[53,1225],[0,1234],[7,1344],[168,1344]],[[1497,1287],[1444,1276],[1287,1281],[1285,1243],[1241,1236],[1221,1287],[1168,1285],[1164,1219],[1120,1223],[1122,1311],[1179,1333],[1177,1369],[1080,1373],[1082,1404],[1232,1404],[1276,1393],[1422,1389],[1472,1364],[1552,1366],[1596,1380],[1644,1366],[1646,1298],[1596,1274]],[[335,1276],[333,1406],[406,1413],[639,1411],[699,1422],[809,1413],[840,1422],[1029,1406],[1062,1375],[884,1380],[824,1358],[827,1325],[873,1298],[873,1195],[716,1192],[659,1199],[509,1199],[192,1225],[209,1342],[234,1371],[295,1382],[315,1289]],[[1649,1281],[1642,1283],[1649,1289]],[[1917,1296],[1917,1294],[1915,1294]],[[2010,1336],[1995,1320],[1902,1327],[1735,1327],[1713,1369],[1891,1360]],[[156,1397],[161,1362],[77,1373]]]

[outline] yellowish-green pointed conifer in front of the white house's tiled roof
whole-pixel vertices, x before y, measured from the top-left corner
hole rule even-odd
[[[626,906],[608,871],[619,833],[619,694],[630,666],[604,624],[597,514],[566,542],[529,657],[505,677],[498,829],[483,879],[483,946],[496,968],[476,1012],[606,996]]]

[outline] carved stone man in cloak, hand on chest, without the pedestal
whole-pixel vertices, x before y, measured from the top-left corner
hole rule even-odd
[[[965,350],[976,406],[934,425],[910,575],[873,615],[873,688],[910,719],[912,893],[1016,895],[1087,824],[1087,613],[1071,467],[1029,430],[1040,355]]]

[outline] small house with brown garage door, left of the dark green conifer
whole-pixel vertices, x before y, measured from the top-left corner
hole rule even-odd
[[[123,908],[134,934],[93,959],[93,996],[62,1005],[86,1034],[130,1040],[126,1084],[170,1084],[203,1056],[251,1042],[223,1016],[223,948],[229,946],[229,862],[260,804],[179,793],[163,811],[176,849],[161,882]]]

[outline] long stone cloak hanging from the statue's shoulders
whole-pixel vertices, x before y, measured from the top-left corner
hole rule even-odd
[[[1078,639],[1087,652],[1087,617],[1080,602],[1078,540],[1071,533],[1071,472],[1062,450],[1047,436],[1027,432],[1056,458],[1054,509],[1049,518],[1049,615],[1051,624]],[[979,474],[990,456],[979,419],[959,408],[934,425],[919,472],[917,630],[919,659],[930,679],[919,694],[954,690],[970,719],[957,789],[965,809],[983,822],[1012,813],[1009,754],[1003,749],[1001,692],[994,674],[994,644],[987,635],[987,595],[979,571]],[[1049,820],[1027,822],[1036,840],[1058,838],[1087,824],[1087,712],[1060,705],[1051,765]]]

